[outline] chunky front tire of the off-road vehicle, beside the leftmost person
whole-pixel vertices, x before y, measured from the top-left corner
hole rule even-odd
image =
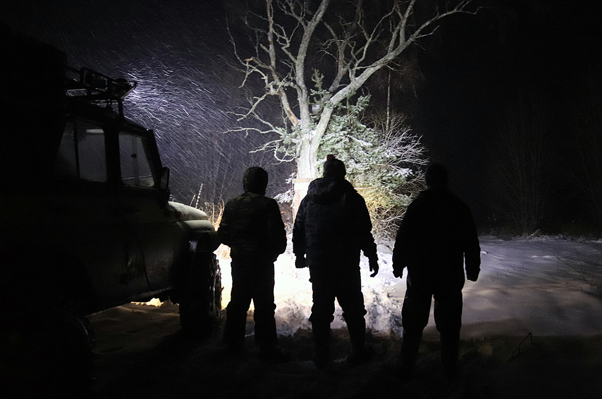
[[[222,274],[216,256],[197,251],[179,298],[182,330],[195,338],[206,338],[222,313]]]

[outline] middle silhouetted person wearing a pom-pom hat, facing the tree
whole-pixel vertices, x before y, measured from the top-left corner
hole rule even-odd
[[[343,308],[349,330],[353,350],[350,362],[368,359],[359,251],[363,250],[370,260],[370,271],[374,270],[372,277],[378,272],[378,256],[364,198],[345,180],[345,175],[343,162],[329,155],[324,162],[324,177],[309,184],[293,229],[295,265],[297,268],[309,266],[311,276],[314,304],[309,321],[318,368],[326,367],[329,356],[335,297]]]

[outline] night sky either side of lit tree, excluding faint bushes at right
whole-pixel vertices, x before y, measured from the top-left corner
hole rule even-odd
[[[393,100],[411,117],[429,156],[448,165],[452,190],[486,228],[492,213],[488,154],[507,102],[524,92],[546,98],[554,136],[569,140],[566,132],[576,118],[569,105],[583,97],[583,82],[600,78],[602,24],[597,1],[474,3],[486,8],[477,16],[445,19],[421,41],[424,49],[412,49],[420,77],[411,93]],[[224,64],[232,59],[226,9],[236,4],[7,0],[0,20],[65,51],[73,66],[140,81],[126,110],[155,129],[163,162],[172,168],[172,192],[187,203],[200,183],[206,201],[238,193],[247,165],[268,169],[268,195],[275,195],[287,189],[284,180],[293,170],[276,164],[271,154],[248,153],[268,137],[222,133],[234,127],[225,112],[244,105],[247,95],[238,89],[240,74]],[[278,107],[273,115],[279,116]],[[570,154],[559,163],[570,164]],[[564,187],[565,181],[559,177],[557,184]]]

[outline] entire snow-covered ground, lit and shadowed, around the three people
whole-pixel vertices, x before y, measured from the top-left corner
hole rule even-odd
[[[480,237],[482,274],[464,288],[461,374],[448,380],[439,360],[431,318],[417,363],[417,378],[397,379],[405,279],[391,274],[390,251],[379,247],[380,272],[362,262],[367,343],[374,359],[349,367],[346,328],[333,330],[324,371],[313,366],[307,318],[311,284],[290,254],[276,263],[279,345],[292,353],[281,365],[258,359],[247,319],[245,356],[222,343],[223,325],[206,341],[179,333],[178,306],[125,304],[90,316],[96,331],[95,389],[99,398],[602,398],[602,242],[497,240]],[[229,262],[221,262],[225,303]],[[155,305],[159,304],[157,301]],[[304,328],[299,328],[304,327]],[[344,327],[338,310],[333,327]],[[293,336],[287,336],[299,328]],[[508,361],[526,333],[526,351]],[[566,337],[566,335],[570,335]]]

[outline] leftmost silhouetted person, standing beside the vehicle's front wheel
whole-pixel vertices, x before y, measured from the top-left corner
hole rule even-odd
[[[265,360],[290,357],[276,343],[274,319],[274,262],[287,248],[278,203],[265,196],[268,175],[253,166],[244,172],[244,193],[228,201],[220,223],[220,240],[231,248],[232,294],[226,307],[224,341],[229,349],[244,351],[247,310],[255,305],[255,344]]]

